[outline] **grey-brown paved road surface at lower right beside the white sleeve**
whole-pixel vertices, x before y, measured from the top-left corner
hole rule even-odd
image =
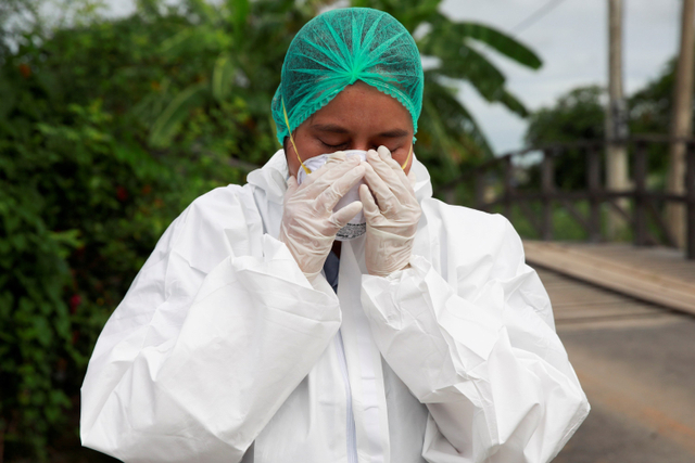
[[[695,462],[695,318],[540,271],[592,412],[555,463]]]

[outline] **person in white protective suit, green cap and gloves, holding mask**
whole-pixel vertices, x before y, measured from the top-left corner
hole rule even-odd
[[[94,348],[85,446],[168,463],[556,455],[586,398],[508,221],[431,197],[421,95],[392,16],[302,28],[273,102],[286,149],[164,233]]]

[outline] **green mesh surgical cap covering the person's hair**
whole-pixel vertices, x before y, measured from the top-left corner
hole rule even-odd
[[[410,113],[417,132],[422,78],[415,40],[390,14],[369,8],[320,14],[302,27],[285,56],[282,81],[273,98],[278,141],[282,144],[289,130],[357,80],[399,100]]]

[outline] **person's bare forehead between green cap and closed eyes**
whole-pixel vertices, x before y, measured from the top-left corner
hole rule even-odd
[[[339,125],[348,131],[413,132],[410,113],[391,95],[364,82],[345,87],[326,106],[307,119],[311,126]]]

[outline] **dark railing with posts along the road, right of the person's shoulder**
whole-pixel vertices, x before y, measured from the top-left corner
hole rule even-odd
[[[542,240],[553,240],[554,210],[560,205],[586,232],[591,242],[606,241],[602,232],[602,207],[607,207],[630,226],[632,240],[636,246],[666,244],[677,247],[677,240],[668,223],[664,220],[659,206],[669,203],[683,204],[685,208],[685,254],[695,259],[695,139],[673,139],[666,136],[635,136],[616,141],[629,150],[632,187],[623,191],[611,191],[604,187],[602,172],[608,142],[582,140],[572,143],[557,143],[528,147],[495,157],[479,166],[467,169],[455,180],[437,189],[447,201],[452,201],[455,191],[462,184],[472,187],[472,206],[482,210],[498,209],[511,220],[513,206],[517,206]],[[647,188],[649,176],[648,150],[662,145],[668,152],[670,143],[686,144],[685,192],[671,194]],[[530,153],[541,153],[541,159],[533,166],[522,167],[522,160]],[[556,160],[567,153],[581,153],[585,162],[585,188],[563,191],[556,185]],[[666,154],[665,154],[666,155]],[[521,163],[519,163],[521,160]],[[519,185],[517,173],[523,169],[540,168],[540,182],[536,188]],[[490,192],[494,197],[489,198]],[[621,203],[629,201],[630,207]],[[578,202],[587,202],[587,213],[576,206]],[[540,204],[540,214],[532,204]],[[538,209],[538,207],[536,207]],[[656,230],[656,232],[655,232]],[[659,236],[660,235],[660,239]]]

